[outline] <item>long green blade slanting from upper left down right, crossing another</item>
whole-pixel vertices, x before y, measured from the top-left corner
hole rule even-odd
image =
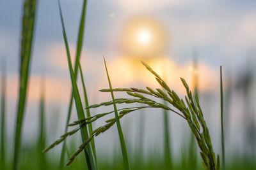
[[[69,67],[69,71],[70,71],[70,78],[72,81],[72,88],[73,88],[73,94],[74,94],[74,99],[75,99],[75,103],[76,103],[77,115],[78,115],[79,120],[81,120],[81,119],[85,118],[84,110],[83,110],[83,105],[81,102],[81,97],[80,97],[80,94],[79,94],[79,91],[77,88],[76,78],[74,76],[74,71],[72,68],[71,57],[70,57],[70,52],[69,52],[69,48],[68,48],[68,41],[67,41],[67,36],[66,36],[66,32],[65,32],[65,26],[64,26],[64,22],[63,22],[60,1],[58,1],[58,5],[59,5],[59,10],[60,10],[61,25],[62,25],[62,29],[63,29],[63,38],[65,41],[65,47],[66,47],[66,51],[67,51],[68,67]],[[82,136],[83,141],[86,141],[86,139],[88,139],[88,131],[87,131],[86,126],[81,128],[81,136]],[[88,169],[95,169],[94,164],[93,164],[93,157],[92,157],[90,145],[87,145],[86,147],[84,147],[84,153],[85,153]]]

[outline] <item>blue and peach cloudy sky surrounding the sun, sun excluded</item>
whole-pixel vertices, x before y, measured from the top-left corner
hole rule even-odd
[[[83,1],[61,0],[67,37],[74,57]],[[146,17],[161,25],[163,49],[154,57],[142,58],[182,94],[179,77],[191,82],[193,52],[198,56],[199,88],[202,92],[219,89],[219,69],[225,76],[239,74],[246,62],[254,63],[256,50],[256,1],[200,1],[200,0],[88,0],[81,66],[89,91],[90,102],[109,99],[97,90],[108,87],[103,55],[109,66],[114,87],[156,86],[153,77],[145,71],[140,59],[131,56],[123,41],[127,24]],[[36,127],[36,111],[40,78],[45,77],[47,110],[54,112],[60,106],[60,122],[65,122],[70,80],[67,56],[61,32],[57,1],[38,1],[31,79],[27,115],[29,124],[24,131]],[[18,94],[20,24],[22,1],[0,2],[0,59],[6,60],[8,73],[8,122],[13,131]],[[246,61],[248,60],[248,61]],[[2,61],[1,61],[2,62]],[[163,71],[163,65],[166,71]],[[166,73],[165,73],[166,72]],[[101,95],[101,94],[100,94]],[[58,108],[58,107],[57,107]],[[216,108],[217,110],[218,108]],[[30,115],[30,116],[28,116]],[[50,116],[49,116],[50,117]],[[76,119],[76,117],[74,117]],[[63,129],[60,127],[60,129]],[[31,132],[33,134],[33,132]],[[12,133],[10,134],[12,136]],[[31,137],[33,138],[33,137]]]

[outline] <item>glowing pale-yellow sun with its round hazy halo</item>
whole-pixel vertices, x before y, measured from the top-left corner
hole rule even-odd
[[[167,46],[163,24],[154,18],[136,17],[126,22],[122,47],[126,55],[148,58],[162,55]]]

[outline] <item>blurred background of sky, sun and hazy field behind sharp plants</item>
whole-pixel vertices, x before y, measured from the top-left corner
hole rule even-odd
[[[81,0],[61,1],[73,59],[82,4]],[[37,7],[28,102],[22,129],[24,166],[32,164],[29,160],[31,161],[35,154],[32,148],[38,140],[41,78],[45,78],[46,145],[50,145],[64,132],[71,92],[58,3],[49,0],[38,1]],[[6,153],[11,161],[19,90],[22,1],[1,1],[0,18],[1,67],[5,66],[7,73]],[[184,96],[186,91],[180,77],[185,78],[192,89],[198,90],[214,150],[216,153],[221,153],[220,66],[222,66],[227,162],[230,162],[230,168],[235,163],[246,164],[245,161],[255,159],[256,152],[255,30],[256,2],[252,0],[89,0],[86,6],[86,26],[81,56],[89,103],[111,100],[110,94],[98,91],[108,88],[103,55],[106,57],[113,87],[159,87],[154,76],[140,63],[140,60],[144,60],[181,96]],[[80,81],[78,85],[81,85]],[[126,94],[116,93],[116,97],[124,96]],[[124,105],[118,107],[122,108]],[[72,121],[75,121],[77,115],[75,107],[73,108]],[[113,108],[102,107],[91,112],[92,115],[96,115],[106,110],[111,111]],[[148,157],[156,157],[156,155],[159,155],[157,159],[162,159],[164,153],[162,112],[161,110],[138,111],[122,119],[129,155],[138,155],[140,148],[141,160],[143,158],[150,160],[151,158]],[[180,167],[185,164],[184,162],[189,162],[186,150],[189,150],[191,132],[186,122],[175,113],[169,115],[170,150],[173,159],[178,162],[177,167]],[[108,118],[111,117],[113,115]],[[104,120],[106,118],[93,123],[93,129],[103,125]],[[67,142],[70,150],[76,150],[81,139],[76,135]],[[101,162],[111,165],[111,162],[120,160],[122,163],[122,159],[116,156],[121,153],[118,142],[116,127],[95,138],[97,155]],[[60,150],[61,145],[45,153],[49,164],[53,164],[52,168],[58,167]],[[200,169],[199,155],[195,161],[200,165],[198,166]],[[77,164],[78,162],[79,160]],[[80,163],[83,164],[82,159]],[[253,161],[250,164],[253,164]],[[84,167],[77,165],[78,169]],[[254,168],[256,169],[255,164],[249,169]]]

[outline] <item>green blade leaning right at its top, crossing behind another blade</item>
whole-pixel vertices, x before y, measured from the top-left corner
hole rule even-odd
[[[78,64],[79,64],[79,60],[81,57],[81,51],[82,51],[82,46],[83,46],[86,4],[87,4],[87,1],[84,0],[83,10],[82,10],[81,20],[80,20],[80,26],[79,26],[79,33],[78,33],[78,38],[77,38],[76,61],[75,61],[75,66],[74,66],[74,76],[75,76],[76,80],[77,80],[77,73],[78,73]],[[72,104],[73,104],[73,100],[74,100],[73,97],[74,97],[74,95],[73,95],[73,90],[72,90],[72,93],[70,95],[70,102],[68,105],[68,114],[67,114],[67,121],[66,121],[66,126],[65,126],[65,133],[67,133],[67,131],[68,131],[68,124],[70,122]],[[65,160],[65,149],[66,149],[66,140],[63,141],[63,146],[61,149],[60,169],[63,169],[63,164],[64,164],[64,160]],[[95,166],[97,166],[96,159],[95,159]]]

